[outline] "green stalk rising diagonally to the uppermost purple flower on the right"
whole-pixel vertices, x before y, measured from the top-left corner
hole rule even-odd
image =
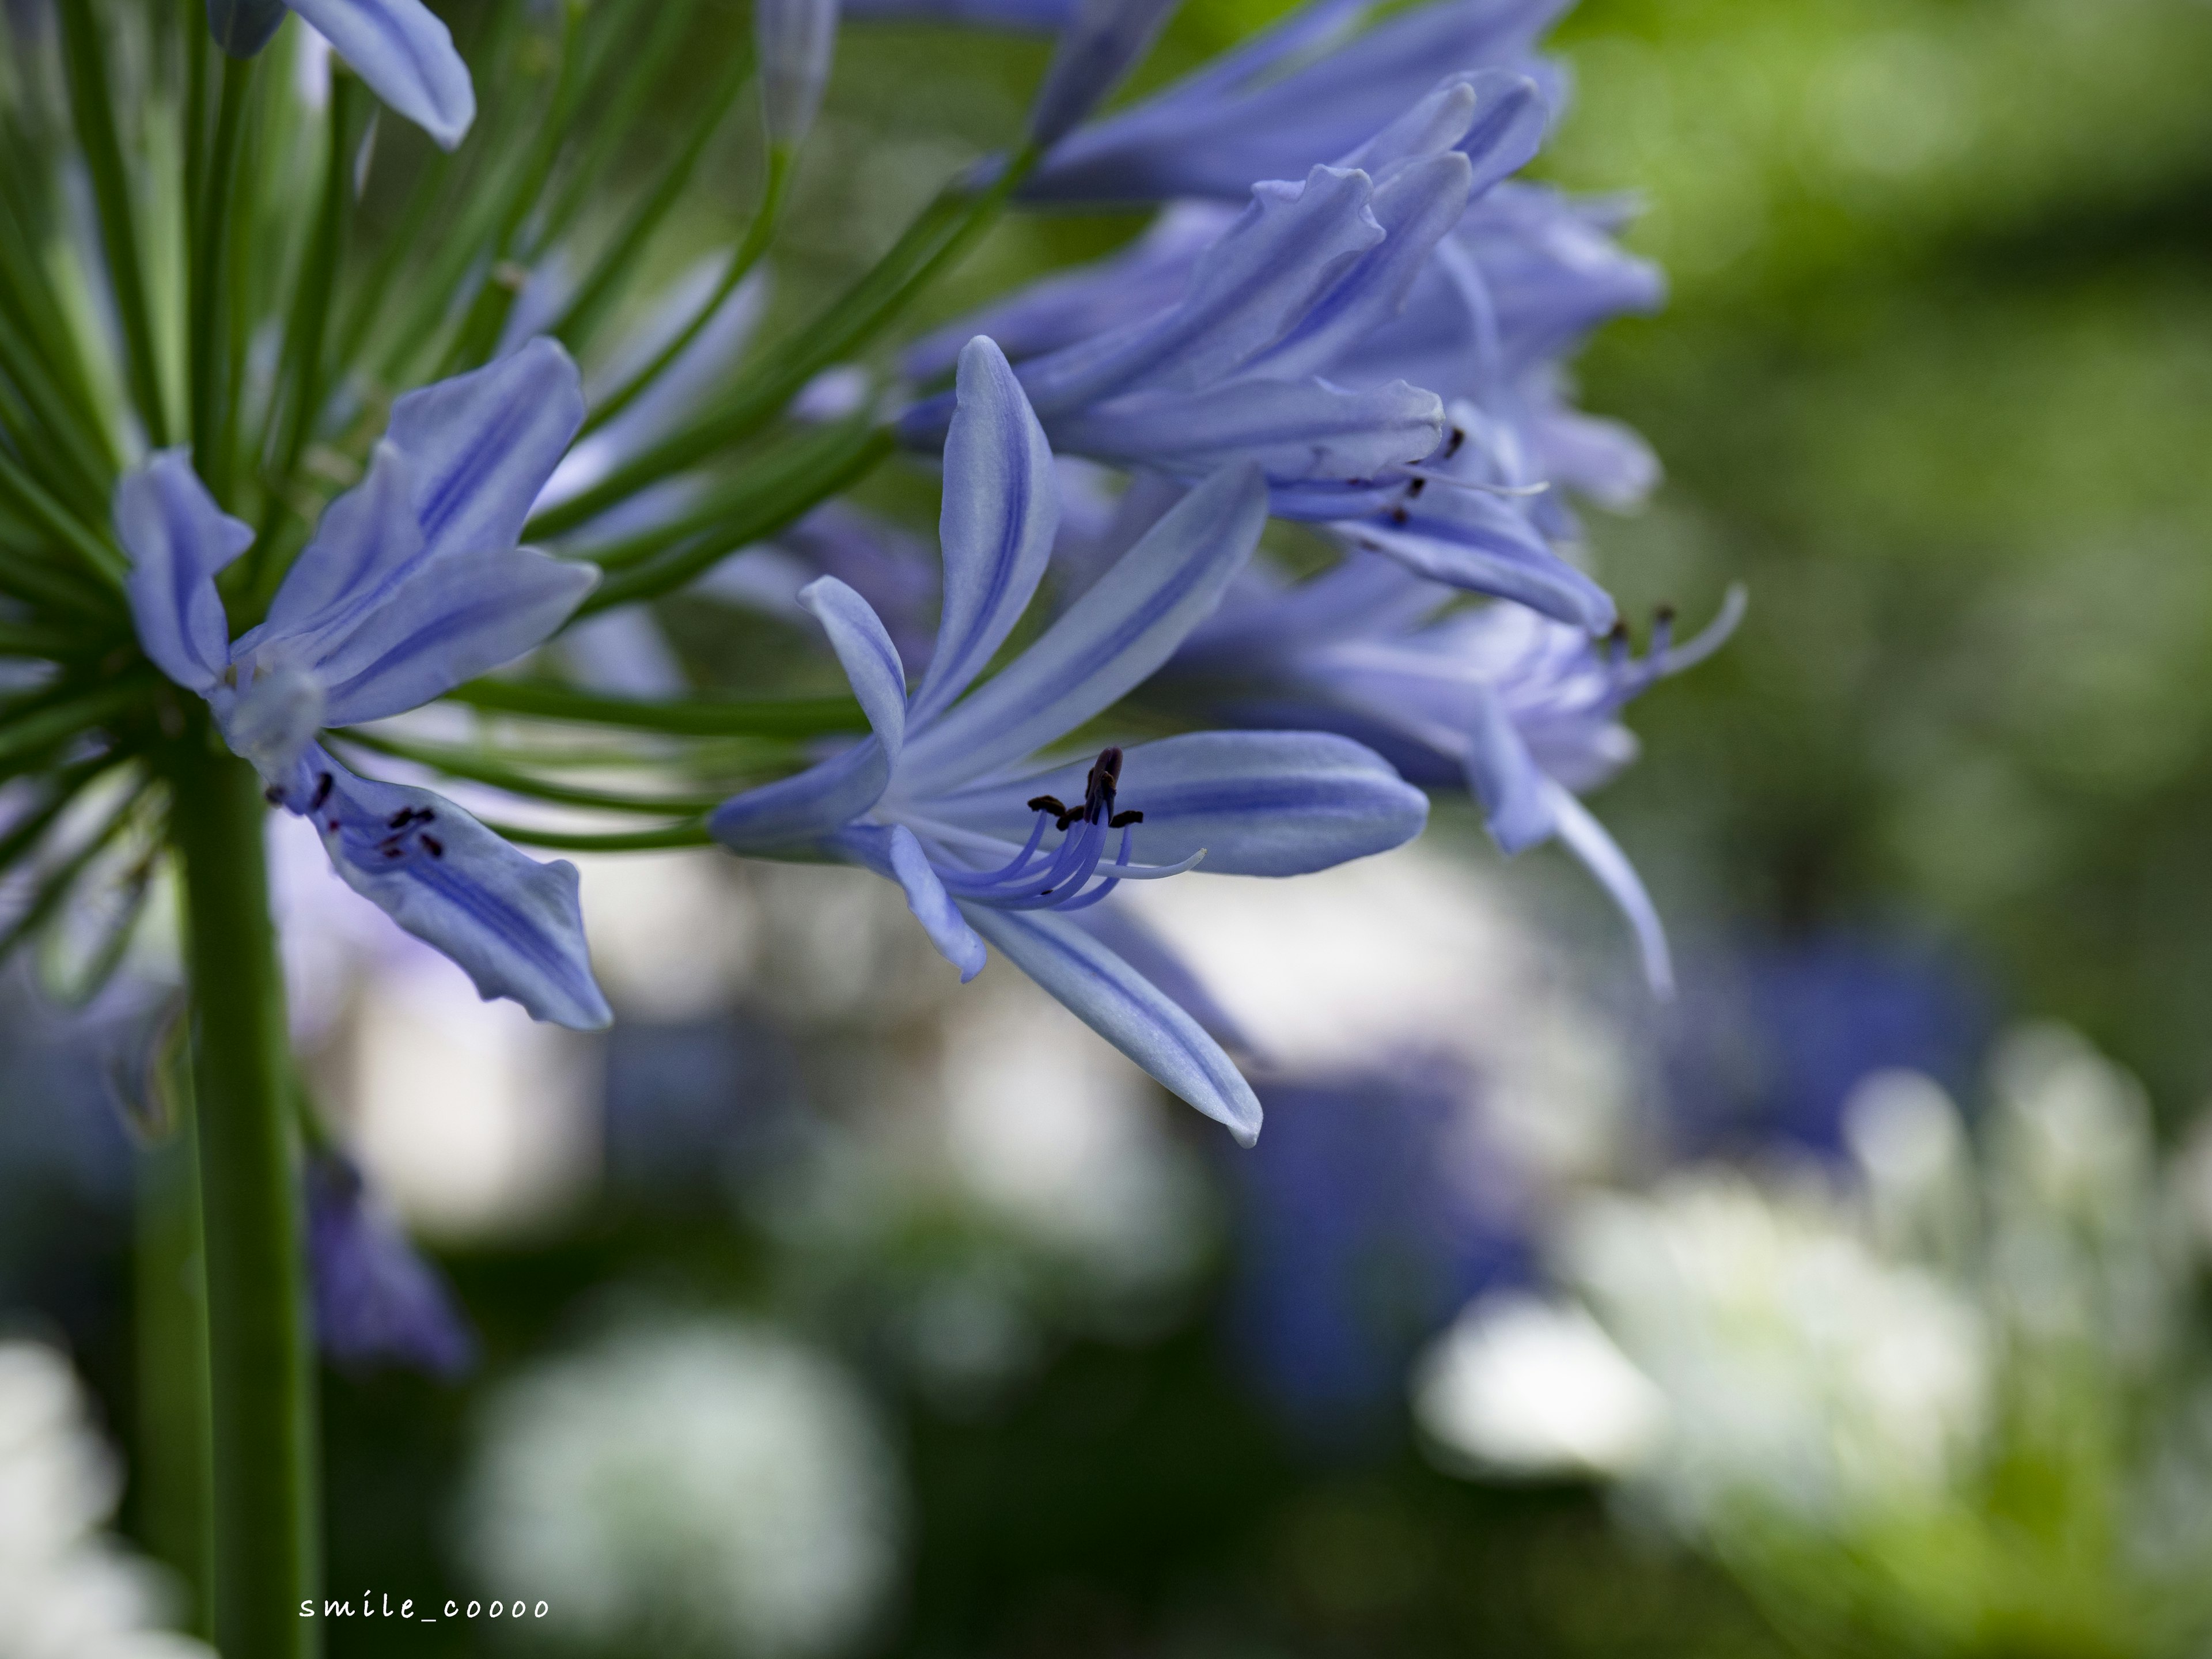
[[[540,513],[531,520],[529,533],[553,538],[573,531],[648,484],[757,434],[807,380],[849,361],[889,327],[998,219],[1035,164],[1035,153],[1024,148],[1000,164],[987,181],[960,179],[940,190],[860,281],[814,323],[770,347],[737,378],[717,409],[617,467],[582,495]]]

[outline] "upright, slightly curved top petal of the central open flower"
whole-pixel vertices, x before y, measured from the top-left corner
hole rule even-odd
[[[1053,451],[989,338],[960,352],[960,411],[945,440],[945,611],[914,719],[951,703],[1029,608],[1060,531]]]

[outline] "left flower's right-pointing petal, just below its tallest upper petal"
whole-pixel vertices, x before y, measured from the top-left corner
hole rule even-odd
[[[526,546],[420,564],[316,661],[325,726],[405,714],[549,639],[599,571]]]

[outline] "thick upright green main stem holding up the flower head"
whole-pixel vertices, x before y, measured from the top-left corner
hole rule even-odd
[[[192,1099],[208,1232],[215,1394],[215,1635],[223,1659],[307,1659],[316,1593],[314,1367],[268,918],[261,781],[204,721],[177,745],[170,838],[184,856]]]

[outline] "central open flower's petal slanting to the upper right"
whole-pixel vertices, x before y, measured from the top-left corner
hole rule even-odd
[[[902,785],[927,794],[995,772],[1126,697],[1214,608],[1265,522],[1256,467],[1208,478],[1029,650],[914,737]]]

